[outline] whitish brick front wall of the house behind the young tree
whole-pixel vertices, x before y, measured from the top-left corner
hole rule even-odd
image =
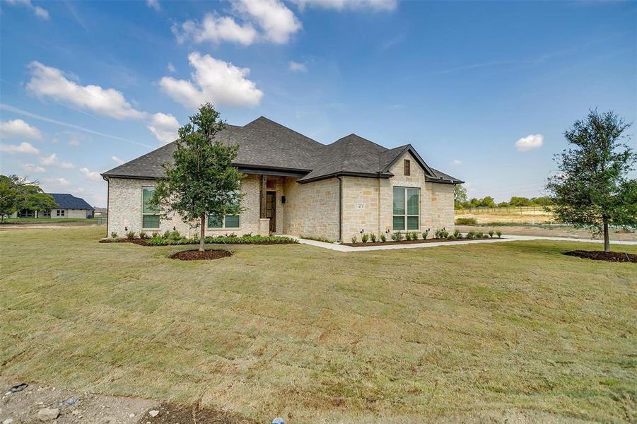
[[[154,187],[156,182],[146,179],[110,178],[108,181],[108,231],[117,232],[124,237],[127,229],[139,233],[141,228],[141,196],[142,187]],[[234,232],[242,235],[247,232],[259,232],[259,177],[248,175],[242,182],[242,206],[247,208],[240,216],[240,228],[206,228],[206,235],[221,235]],[[192,228],[184,223],[176,213],[168,219],[160,219],[159,232],[173,230],[181,235],[191,237],[199,234],[199,228]],[[146,230],[152,232],[153,230]]]

